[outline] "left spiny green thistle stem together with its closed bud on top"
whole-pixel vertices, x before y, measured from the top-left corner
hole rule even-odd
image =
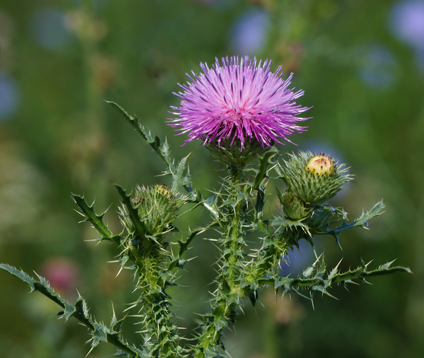
[[[118,190],[120,190],[118,188]],[[121,193],[122,191],[120,191]],[[137,288],[142,293],[130,307],[141,305],[139,322],[146,333],[144,347],[152,357],[181,357],[183,348],[173,324],[170,296],[165,289],[173,285],[170,270],[170,252],[165,242],[172,221],[185,199],[171,192],[167,186],[137,187],[133,197],[121,194],[124,206],[121,221],[128,231],[123,240],[128,259],[134,262]]]

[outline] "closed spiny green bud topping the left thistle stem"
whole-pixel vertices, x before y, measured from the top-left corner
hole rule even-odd
[[[176,195],[166,184],[156,184],[152,188],[137,186],[131,203],[137,209],[146,234],[161,241],[172,230],[170,223],[175,220],[179,209],[187,202],[186,196]],[[126,205],[120,208],[121,222],[129,234],[136,230]]]

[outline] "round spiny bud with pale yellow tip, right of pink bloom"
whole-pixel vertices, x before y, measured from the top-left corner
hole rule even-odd
[[[331,199],[351,180],[344,164],[311,152],[291,154],[281,169],[288,188],[308,204]]]

